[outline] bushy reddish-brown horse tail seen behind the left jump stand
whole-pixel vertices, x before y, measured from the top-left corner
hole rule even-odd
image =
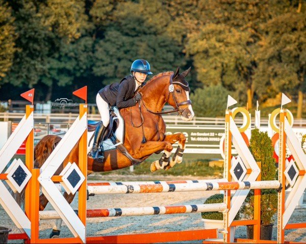
[[[34,168],[40,168],[62,138],[55,135],[44,136],[34,147]],[[9,190],[19,206],[24,207],[24,189],[21,193]]]

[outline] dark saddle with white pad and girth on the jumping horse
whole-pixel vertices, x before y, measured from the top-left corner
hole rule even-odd
[[[97,126],[101,121],[88,120],[87,130],[88,132],[93,132],[96,130]],[[89,145],[94,137],[94,133],[89,140]],[[106,129],[106,132],[101,138],[100,150],[108,151],[117,149],[132,161],[132,165],[138,165],[143,162],[143,160],[135,159],[126,150],[124,143],[124,119],[121,116],[119,109],[116,106],[110,107],[110,123]]]

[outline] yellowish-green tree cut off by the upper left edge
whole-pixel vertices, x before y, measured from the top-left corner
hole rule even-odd
[[[14,18],[11,12],[12,9],[8,4],[0,0],[0,80],[6,76],[12,66],[16,51]]]

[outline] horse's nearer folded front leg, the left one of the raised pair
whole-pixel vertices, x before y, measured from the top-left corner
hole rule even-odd
[[[164,150],[164,154],[160,160],[153,162],[150,166],[151,172],[158,169],[165,169],[169,164],[169,159],[173,146],[169,141],[147,141],[141,144],[140,148],[136,151],[136,158],[140,159],[143,157],[150,156],[156,153],[156,151]]]

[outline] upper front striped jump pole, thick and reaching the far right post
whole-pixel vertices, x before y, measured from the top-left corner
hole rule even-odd
[[[220,191],[245,189],[279,189],[278,180],[238,181],[238,182],[202,182],[194,184],[157,184],[157,185],[88,185],[89,195],[129,194],[129,193],[161,193],[161,192],[191,192],[191,191]]]

